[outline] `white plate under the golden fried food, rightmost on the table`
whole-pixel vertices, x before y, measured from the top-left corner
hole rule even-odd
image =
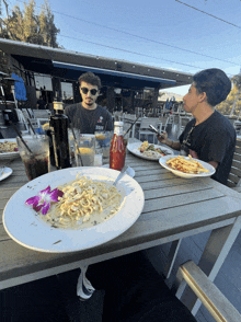
[[[159,163],[168,169],[169,171],[171,171],[172,173],[179,175],[179,176],[182,176],[182,177],[186,177],[186,179],[192,179],[192,177],[204,177],[204,176],[211,176],[213,174],[215,174],[215,168],[213,165],[210,165],[209,163],[207,162],[204,162],[202,160],[197,160],[197,159],[194,159],[194,160],[197,160],[205,169],[209,170],[209,172],[202,172],[202,173],[198,173],[198,174],[192,174],[192,173],[184,173],[182,171],[179,171],[179,170],[174,170],[172,168],[170,168],[168,164],[167,164],[167,161],[169,159],[171,159],[173,157],[170,157],[170,156],[165,156],[165,157],[162,157],[159,159]],[[175,158],[175,157],[174,157]],[[186,160],[190,160],[188,157],[185,157]]]

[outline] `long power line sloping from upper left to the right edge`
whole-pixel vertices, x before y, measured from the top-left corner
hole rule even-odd
[[[24,3],[24,1],[21,1],[21,0],[19,0],[19,2]],[[181,1],[179,1],[179,2],[181,2]],[[181,3],[183,3],[183,2],[181,2]],[[185,3],[183,3],[183,4],[185,4]],[[36,7],[37,8],[42,8],[39,5],[36,5]],[[236,62],[232,62],[232,61],[229,61],[229,60],[225,60],[225,59],[216,58],[216,57],[213,57],[213,56],[209,56],[209,55],[196,53],[196,51],[193,51],[193,50],[190,50],[190,49],[181,48],[181,47],[177,47],[177,46],[174,46],[174,45],[170,45],[170,44],[165,44],[165,43],[162,43],[162,42],[159,42],[159,41],[150,39],[150,38],[147,38],[147,37],[144,37],[144,36],[139,36],[139,35],[136,35],[136,34],[131,34],[131,33],[128,33],[128,32],[125,32],[125,31],[119,31],[119,30],[116,30],[116,28],[113,28],[113,27],[110,27],[110,26],[105,26],[105,25],[102,25],[102,24],[99,24],[99,23],[95,23],[95,22],[92,22],[92,21],[84,20],[82,18],[77,18],[77,16],[69,15],[69,14],[66,14],[66,13],[61,13],[61,12],[58,12],[58,11],[55,11],[55,10],[51,10],[51,11],[55,12],[55,13],[57,13],[57,14],[60,14],[60,15],[65,15],[65,16],[71,18],[71,19],[76,19],[76,20],[79,20],[79,21],[82,21],[82,22],[92,24],[92,25],[101,26],[101,27],[104,27],[104,28],[107,28],[107,30],[111,30],[111,31],[115,31],[115,32],[118,32],[118,33],[122,33],[122,34],[126,34],[126,35],[133,36],[133,37],[137,37],[137,38],[142,39],[142,41],[147,41],[147,42],[151,42],[151,43],[154,43],[154,44],[168,46],[168,47],[171,47],[171,48],[174,48],[174,49],[179,49],[179,50],[183,50],[183,51],[186,51],[186,53],[199,55],[199,56],[203,56],[203,57],[206,57],[206,58],[211,58],[211,59],[219,60],[219,61],[222,61],[222,62],[232,64],[234,66],[240,66],[240,64],[236,64]],[[76,31],[76,32],[78,32],[78,31]],[[125,49],[120,49],[120,48],[118,50],[124,50],[125,51]],[[141,54],[139,54],[139,55],[141,55]]]

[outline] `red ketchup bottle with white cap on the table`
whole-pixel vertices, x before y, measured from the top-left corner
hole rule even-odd
[[[122,171],[125,165],[126,147],[123,139],[123,122],[114,123],[114,136],[110,149],[110,169]]]

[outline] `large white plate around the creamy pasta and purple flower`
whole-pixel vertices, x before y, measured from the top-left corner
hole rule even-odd
[[[44,174],[22,186],[8,202],[3,211],[3,225],[8,234],[18,243],[28,249],[65,253],[91,249],[103,244],[126,231],[140,216],[144,208],[144,192],[140,185],[129,175],[123,176],[117,189],[123,198],[122,207],[116,215],[91,228],[83,230],[58,229],[45,223],[24,203],[27,198],[48,185],[51,189],[76,179],[81,173],[92,180],[113,182],[119,171],[97,166],[69,168]]]

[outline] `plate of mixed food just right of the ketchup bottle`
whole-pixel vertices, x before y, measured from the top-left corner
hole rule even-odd
[[[146,160],[158,161],[163,156],[174,154],[173,150],[163,146],[148,143],[148,141],[128,143],[127,149],[133,154]]]

